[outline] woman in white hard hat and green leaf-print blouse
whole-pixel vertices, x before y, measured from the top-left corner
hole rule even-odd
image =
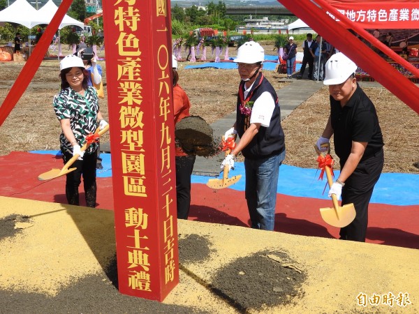
[[[87,207],[96,207],[96,149],[93,142],[85,151],[81,146],[87,136],[103,130],[108,125],[99,110],[98,96],[93,87],[87,85],[89,74],[82,59],[74,55],[60,62],[61,91],[54,96],[54,112],[59,120],[62,133],[59,137],[64,164],[75,154],[80,157],[72,167],[76,170],[66,175],[66,197],[68,204],[79,204],[78,187],[83,177],[84,194]]]

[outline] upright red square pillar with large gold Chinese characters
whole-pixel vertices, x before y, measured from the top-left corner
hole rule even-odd
[[[170,1],[103,1],[119,292],[179,282]]]

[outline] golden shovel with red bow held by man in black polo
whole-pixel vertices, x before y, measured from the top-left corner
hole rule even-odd
[[[327,145],[328,152],[330,152],[329,144]],[[317,154],[323,156],[322,152],[317,149],[317,146],[314,146]],[[327,165],[325,166],[325,172],[326,176],[328,177],[329,187],[331,187],[333,184],[332,172],[330,170],[330,167],[328,167]],[[344,206],[339,206],[336,194],[332,194],[332,202],[332,208],[320,209],[321,218],[323,218],[323,220],[325,220],[326,223],[332,225],[333,227],[346,227],[347,225],[352,223],[356,216],[356,211],[355,207],[353,206],[353,203],[346,204]]]

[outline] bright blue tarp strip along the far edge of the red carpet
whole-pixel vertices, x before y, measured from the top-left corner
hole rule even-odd
[[[59,151],[31,151],[34,154],[60,155]],[[112,165],[110,154],[101,154],[103,170],[97,170],[97,177],[112,177]],[[339,176],[339,171],[335,170],[335,177]],[[244,163],[235,163],[235,169],[230,171],[230,176],[242,174],[242,179],[230,186],[234,190],[244,190]],[[311,197],[318,199],[328,199],[328,188],[323,195],[326,180],[318,181],[320,171],[294,167],[291,165],[281,165],[279,170],[279,181],[277,193],[296,197]],[[192,183],[206,184],[209,179],[214,177],[192,176]],[[220,174],[219,179],[222,178]],[[403,173],[383,173],[372,194],[372,203],[390,204],[399,206],[419,205],[419,174]]]

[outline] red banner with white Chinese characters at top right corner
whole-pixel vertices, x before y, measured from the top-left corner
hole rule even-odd
[[[418,29],[419,1],[327,1],[364,29]]]

